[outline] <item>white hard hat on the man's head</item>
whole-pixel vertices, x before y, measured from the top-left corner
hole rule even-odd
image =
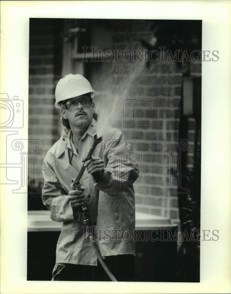
[[[95,95],[89,81],[81,74],[67,74],[61,78],[55,88],[55,107],[61,108],[58,102],[77,97],[86,93],[91,93],[91,98]]]

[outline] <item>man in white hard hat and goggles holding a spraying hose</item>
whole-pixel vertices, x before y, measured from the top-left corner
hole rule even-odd
[[[51,219],[63,223],[52,280],[110,280],[84,236],[80,208],[85,201],[107,266],[119,281],[134,278],[135,245],[128,237],[135,229],[133,182],[138,169],[133,153],[124,156],[126,139],[120,130],[106,128],[102,142],[85,163],[84,188],[71,190],[71,180],[97,133],[94,94],[89,81],[79,74],[66,75],[56,86],[55,106],[61,108],[66,128],[44,159],[42,191]],[[115,150],[120,156],[115,156]]]

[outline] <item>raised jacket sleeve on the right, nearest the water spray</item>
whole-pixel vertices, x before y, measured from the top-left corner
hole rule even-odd
[[[132,192],[133,183],[139,176],[138,165],[133,151],[129,150],[129,140],[117,129],[104,142],[103,180],[95,186],[110,196],[126,191]]]

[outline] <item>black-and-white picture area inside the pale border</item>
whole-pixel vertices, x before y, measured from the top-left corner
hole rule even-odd
[[[28,280],[200,282],[202,21],[29,32]]]

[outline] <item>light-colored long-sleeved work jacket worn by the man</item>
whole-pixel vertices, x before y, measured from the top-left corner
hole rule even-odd
[[[92,145],[93,136],[96,134],[95,124],[93,119],[79,141],[75,168],[71,165],[73,148],[70,141],[71,131],[68,129],[63,130],[61,138],[44,158],[42,201],[51,211],[51,219],[63,222],[56,248],[56,263],[97,265],[91,243],[84,240],[83,224],[80,219],[73,218],[73,210],[67,196],[71,179],[76,177],[83,164],[82,159]],[[132,183],[138,178],[139,172],[135,156],[133,152],[128,152],[126,142],[120,130],[107,127],[102,142],[96,146],[93,153],[93,156],[103,159],[103,181],[96,184],[86,170],[81,178],[91,223],[96,226],[97,232],[102,232],[97,242],[102,256],[135,255],[135,243],[130,238],[129,231],[133,232],[135,229],[135,197]],[[115,230],[119,230],[117,236]]]

